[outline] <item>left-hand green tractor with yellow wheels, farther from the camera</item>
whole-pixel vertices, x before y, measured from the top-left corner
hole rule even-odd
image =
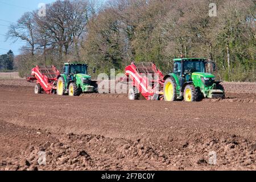
[[[91,80],[87,68],[84,63],[65,63],[63,73],[57,77],[57,94],[80,96],[81,93],[97,92],[97,83]]]

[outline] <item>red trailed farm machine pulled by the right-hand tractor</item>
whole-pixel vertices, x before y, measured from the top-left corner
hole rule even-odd
[[[154,63],[131,63],[125,68],[125,75],[146,100],[162,100],[164,75]]]

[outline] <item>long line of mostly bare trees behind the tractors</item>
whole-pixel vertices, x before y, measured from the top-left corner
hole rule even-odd
[[[98,72],[123,72],[131,61],[154,62],[171,72],[172,59],[205,57],[226,81],[256,81],[255,1],[110,0],[56,1],[24,14],[8,37],[26,42],[16,56],[20,75],[36,64],[76,60]]]

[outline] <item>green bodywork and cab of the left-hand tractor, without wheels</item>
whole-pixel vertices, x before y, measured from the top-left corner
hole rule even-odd
[[[71,68],[80,69],[81,73],[71,72]],[[75,82],[82,92],[94,92],[96,88],[91,85],[92,77],[87,75],[87,65],[84,63],[65,63],[63,73],[60,75],[64,78],[65,93],[68,93],[69,84]]]

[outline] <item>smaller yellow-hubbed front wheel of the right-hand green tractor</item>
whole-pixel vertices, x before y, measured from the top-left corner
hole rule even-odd
[[[187,85],[184,89],[184,100],[187,102],[200,101],[201,93],[200,89],[195,88],[193,85]]]

